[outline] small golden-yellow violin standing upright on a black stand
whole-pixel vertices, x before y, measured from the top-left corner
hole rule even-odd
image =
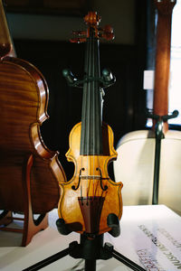
[[[100,39],[114,38],[110,25],[99,27],[100,15],[90,12],[84,17],[86,31],[74,32],[71,42],[86,42],[84,78],[74,78],[70,70],[63,76],[72,87],[83,88],[81,122],[72,127],[67,160],[74,164],[74,174],[69,182],[60,182],[61,198],[58,206],[60,224],[66,233],[76,231],[89,237],[111,231],[110,220],[120,220],[122,215],[122,182],[113,182],[108,165],[117,153],[113,147],[113,132],[102,122],[103,88],[114,83],[110,70],[100,76]],[[62,233],[62,232],[61,232]]]

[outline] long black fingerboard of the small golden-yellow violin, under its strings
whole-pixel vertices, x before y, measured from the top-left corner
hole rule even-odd
[[[90,28],[91,32],[91,28]],[[81,155],[102,154],[102,99],[100,92],[100,51],[99,40],[90,33],[86,42],[86,81],[83,85],[81,112]]]

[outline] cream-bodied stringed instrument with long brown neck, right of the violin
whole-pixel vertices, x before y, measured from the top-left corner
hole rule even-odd
[[[176,0],[154,1],[157,8],[157,53],[154,86],[152,130],[134,131],[124,135],[117,147],[118,160],[114,162],[116,181],[121,177],[124,183],[122,192],[125,205],[158,203],[181,213],[181,133],[168,130],[167,119],[176,117],[176,112],[168,116],[168,80],[170,65],[170,40],[172,11]],[[160,150],[157,152],[157,128],[160,126]],[[158,136],[159,136],[158,135]],[[155,174],[157,172],[157,174]],[[158,183],[159,182],[159,183]],[[159,185],[158,185],[159,184]]]

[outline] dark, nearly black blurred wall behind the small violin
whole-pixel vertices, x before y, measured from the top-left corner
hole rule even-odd
[[[148,68],[148,18],[151,22],[153,7],[146,0],[5,2],[17,57],[41,70],[49,87],[50,118],[41,127],[43,141],[49,149],[59,151],[59,160],[70,179],[73,165],[66,161],[65,153],[71,128],[81,121],[82,89],[68,87],[62,70],[69,68],[82,78],[85,46],[69,42],[71,32],[85,29],[83,16],[88,11],[100,14],[100,26],[110,24],[114,28],[113,41],[100,41],[100,67],[110,68],[117,79],[114,86],[105,89],[103,107],[103,120],[113,129],[116,147],[122,135],[146,127],[143,71]],[[154,65],[154,61],[151,63]]]

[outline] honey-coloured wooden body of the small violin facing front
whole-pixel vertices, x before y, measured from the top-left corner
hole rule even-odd
[[[69,229],[80,233],[107,232],[110,230],[107,224],[110,210],[119,220],[122,215],[122,183],[112,182],[108,174],[108,164],[117,157],[110,126],[103,123],[102,134],[105,138],[104,153],[96,156],[80,154],[81,123],[74,126],[70,134],[70,149],[66,156],[69,162],[74,163],[75,171],[71,181],[60,183],[62,194],[58,210],[59,217]],[[108,189],[103,191],[101,185]],[[76,191],[72,189],[78,186]]]

